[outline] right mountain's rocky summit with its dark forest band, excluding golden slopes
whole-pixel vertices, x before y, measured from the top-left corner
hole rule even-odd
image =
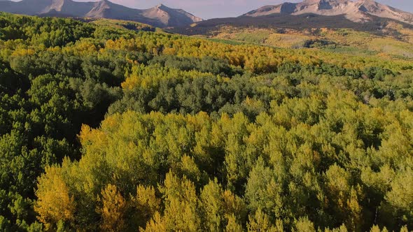
[[[401,24],[413,30],[413,14],[372,0],[304,0],[262,6],[239,17],[203,20],[172,31],[186,35],[216,36],[229,28],[260,29],[340,29],[367,31],[372,34],[398,37],[390,25]],[[230,33],[230,32],[229,32]]]

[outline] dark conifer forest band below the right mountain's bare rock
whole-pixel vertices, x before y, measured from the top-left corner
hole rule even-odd
[[[294,29],[307,31],[311,29],[353,29],[355,31],[365,31],[370,34],[387,35],[396,37],[400,34],[398,29],[391,25],[398,24],[400,27],[413,31],[413,25],[384,17],[370,16],[372,20],[363,23],[353,22],[345,15],[316,15],[314,13],[304,13],[302,15],[290,15],[286,13],[272,13],[262,16],[240,16],[216,18],[204,20],[185,27],[170,29],[179,34],[190,36],[204,35],[214,37],[223,31],[223,28],[239,29]],[[228,31],[230,33],[230,30]]]

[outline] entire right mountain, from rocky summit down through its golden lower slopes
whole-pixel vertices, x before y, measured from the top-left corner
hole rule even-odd
[[[410,16],[374,1],[307,0],[170,30],[231,44],[319,48],[413,59]]]

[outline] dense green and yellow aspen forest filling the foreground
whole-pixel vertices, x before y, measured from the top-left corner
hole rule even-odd
[[[0,14],[0,231],[413,229],[413,63]]]

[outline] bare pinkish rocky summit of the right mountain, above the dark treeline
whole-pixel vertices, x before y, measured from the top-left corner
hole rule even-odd
[[[274,13],[302,15],[344,15],[353,22],[371,22],[374,17],[384,17],[413,24],[413,14],[398,10],[373,0],[305,0],[301,3],[281,3],[279,5],[262,6],[241,16],[258,17]]]

